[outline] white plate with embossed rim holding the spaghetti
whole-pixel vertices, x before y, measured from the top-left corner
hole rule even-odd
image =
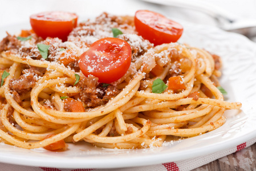
[[[241,110],[225,112],[227,121],[221,128],[153,149],[103,149],[80,143],[71,144],[65,152],[49,152],[42,148],[28,150],[5,144],[0,145],[0,162],[55,168],[144,166],[218,152],[256,137],[256,44],[244,36],[215,27],[180,23],[185,28],[180,42],[205,48],[222,57],[221,84],[228,92],[225,100],[242,103]],[[9,28],[0,29],[0,36],[5,30]]]

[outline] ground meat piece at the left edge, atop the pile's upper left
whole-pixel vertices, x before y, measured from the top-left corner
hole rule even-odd
[[[21,41],[19,41],[16,36],[12,36],[9,33],[7,33],[7,36],[0,42],[0,52],[18,49],[19,47],[21,47]]]

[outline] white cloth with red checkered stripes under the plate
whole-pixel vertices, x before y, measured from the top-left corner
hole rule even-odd
[[[202,165],[208,164],[211,161],[217,160],[218,158],[227,156],[228,154],[238,152],[250,145],[253,145],[256,142],[256,138],[246,141],[240,145],[234,146],[233,148],[229,148],[226,150],[222,150],[221,152],[216,152],[212,154],[208,154],[206,156],[191,158],[189,160],[182,160],[177,162],[168,162],[164,164],[158,165],[150,165],[150,166],[140,166],[135,168],[118,168],[118,169],[58,169],[58,168],[45,168],[45,167],[32,167],[32,166],[21,166],[21,165],[12,165],[5,164],[0,162],[0,170],[26,170],[26,171],[185,171],[192,170],[198,168]]]

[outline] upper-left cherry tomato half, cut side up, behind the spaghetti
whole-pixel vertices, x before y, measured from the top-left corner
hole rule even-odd
[[[46,39],[58,37],[67,40],[68,34],[78,22],[78,16],[74,13],[61,11],[44,12],[30,16],[30,24],[35,34]]]

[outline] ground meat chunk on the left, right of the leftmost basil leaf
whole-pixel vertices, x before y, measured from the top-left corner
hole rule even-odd
[[[43,76],[42,68],[31,67],[22,71],[22,75],[18,79],[11,79],[9,83],[9,88],[12,91],[18,93],[25,93],[30,91],[32,87],[35,86],[36,81],[39,76]]]

